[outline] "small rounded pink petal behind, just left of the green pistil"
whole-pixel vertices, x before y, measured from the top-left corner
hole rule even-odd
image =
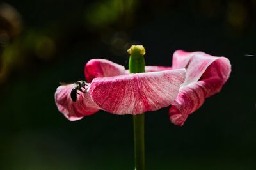
[[[112,77],[124,75],[125,68],[106,59],[91,59],[84,66],[84,74],[88,82],[96,77]]]

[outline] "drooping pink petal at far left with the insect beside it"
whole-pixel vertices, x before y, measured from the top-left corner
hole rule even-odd
[[[77,95],[77,101],[73,102],[70,93],[74,84],[59,86],[55,92],[55,102],[58,110],[70,121],[80,120],[84,116],[94,114],[100,107],[92,101],[88,93]]]

